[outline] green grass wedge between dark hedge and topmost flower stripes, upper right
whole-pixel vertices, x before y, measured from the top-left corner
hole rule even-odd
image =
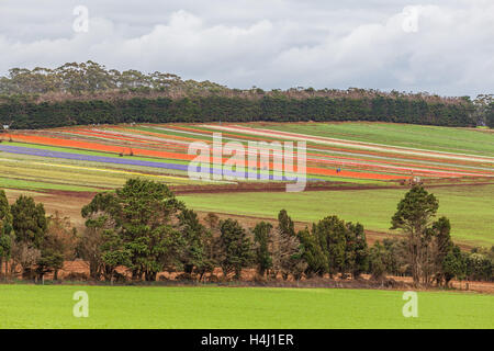
[[[359,122],[251,126],[390,146],[494,156],[494,134],[467,128]]]

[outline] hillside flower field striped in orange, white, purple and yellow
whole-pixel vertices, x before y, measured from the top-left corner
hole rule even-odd
[[[212,144],[214,133],[222,134],[224,144],[293,141],[296,145],[306,141],[308,181],[384,184],[411,177],[456,179],[459,182],[494,177],[492,134],[460,131],[465,139],[476,137],[487,143],[480,140],[476,147],[454,149],[456,139],[450,139],[445,147],[448,151],[442,151],[434,144],[404,147],[386,145],[385,140],[356,141],[355,134],[352,139],[340,138],[339,135],[334,137],[332,134],[336,133],[321,133],[326,127],[327,124],[305,128],[297,124],[128,124],[15,131],[2,135],[0,185],[19,181],[21,186],[24,181],[31,185],[25,183],[22,186],[32,189],[40,189],[41,185],[36,186],[36,182],[40,182],[53,183],[54,189],[60,185],[70,189],[74,185],[74,189],[79,190],[85,190],[85,186],[88,190],[104,190],[119,186],[126,178],[135,176],[158,178],[169,184],[193,184],[197,182],[188,178],[187,170],[195,155],[190,155],[189,145],[194,141]],[[409,137],[406,131],[408,126],[401,127],[404,137]],[[439,134],[451,128],[436,129]],[[435,129],[426,132],[434,136]],[[451,133],[458,131],[452,129]],[[366,135],[364,131],[362,135]],[[222,160],[225,162],[227,158]],[[22,168],[31,171],[24,172]],[[211,171],[221,173],[221,165],[213,163]],[[80,177],[75,179],[76,174]]]

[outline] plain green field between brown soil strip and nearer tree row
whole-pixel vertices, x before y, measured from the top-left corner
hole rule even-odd
[[[315,222],[328,215],[360,222],[367,229],[390,231],[390,220],[407,189],[305,191],[300,193],[217,193],[179,196],[194,210],[277,218],[285,208],[294,220]],[[439,215],[451,220],[454,240],[494,244],[494,185],[433,188]]]

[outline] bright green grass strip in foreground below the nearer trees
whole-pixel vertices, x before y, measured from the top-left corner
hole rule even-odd
[[[86,291],[89,317],[76,318]],[[494,328],[494,295],[266,287],[0,285],[0,328]]]

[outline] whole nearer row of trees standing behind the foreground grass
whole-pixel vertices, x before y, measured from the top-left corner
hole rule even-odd
[[[156,281],[159,272],[181,280],[242,279],[255,268],[261,280],[314,276],[374,280],[386,274],[413,276],[416,285],[448,286],[452,279],[493,281],[494,246],[463,252],[450,237],[446,217],[433,220],[437,200],[413,188],[392,218],[402,239],[368,247],[363,226],[327,216],[295,231],[287,211],[278,223],[247,229],[235,219],[207,214],[200,220],[161,183],[132,179],[114,192],[97,194],[82,208],[86,229],[78,234],[68,218],[46,216],[43,204],[20,196],[9,205],[0,192],[0,268],[14,276],[42,280],[76,258],[89,264],[92,280]],[[10,263],[10,264],[8,264]]]

